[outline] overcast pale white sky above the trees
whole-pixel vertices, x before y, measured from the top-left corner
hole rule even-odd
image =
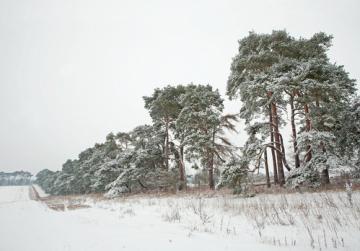
[[[60,169],[110,131],[149,123],[141,97],[155,87],[224,94],[250,30],[333,34],[332,60],[360,79],[359,10],[357,0],[0,0],[0,171]]]

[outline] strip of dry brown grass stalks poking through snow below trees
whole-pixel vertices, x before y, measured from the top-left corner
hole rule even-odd
[[[139,224],[162,221],[176,225],[189,238],[208,233],[286,250],[360,248],[358,191],[262,194],[253,198],[205,193],[137,195],[112,200],[75,196],[61,200],[65,205],[75,201],[108,210],[120,219],[138,220]]]

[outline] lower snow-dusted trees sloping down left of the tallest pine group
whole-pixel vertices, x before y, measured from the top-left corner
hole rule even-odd
[[[107,191],[114,196],[139,189],[186,186],[185,163],[208,172],[215,187],[214,169],[234,148],[225,129],[235,130],[235,115],[222,115],[218,90],[210,85],[178,85],[155,89],[144,97],[153,123],[131,132],[110,133],[68,160],[61,171],[42,170],[37,182],[50,194]]]

